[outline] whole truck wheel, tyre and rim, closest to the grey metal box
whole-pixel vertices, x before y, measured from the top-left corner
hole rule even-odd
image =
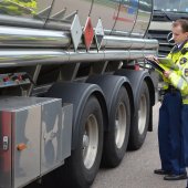
[[[102,114],[98,101],[91,96],[77,122],[80,126],[77,147],[65,163],[71,187],[88,188],[98,171],[103,148]]]

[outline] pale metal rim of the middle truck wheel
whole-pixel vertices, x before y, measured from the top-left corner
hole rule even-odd
[[[126,126],[126,107],[124,103],[119,103],[115,121],[115,143],[117,148],[121,148],[124,144]]]

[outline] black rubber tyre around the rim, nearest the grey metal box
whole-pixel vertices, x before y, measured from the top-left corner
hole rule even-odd
[[[94,121],[93,125],[97,123],[96,126],[98,136],[96,156],[91,166],[84,164],[84,161],[86,161],[86,158],[84,160],[83,157],[84,154],[87,153],[86,149],[84,153],[83,139],[84,134],[86,132],[86,123],[88,123],[87,121],[90,121],[90,118],[93,118],[91,119]],[[83,113],[81,115],[81,119],[77,123],[77,126],[80,127],[77,147],[75,150],[72,152],[71,157],[67,158],[67,160],[65,161],[65,167],[63,167],[63,174],[65,175],[65,181],[67,187],[88,188],[93,184],[95,176],[98,171],[103,149],[103,113],[96,97],[91,96],[87,100]],[[92,137],[88,138],[88,144],[91,140]]]

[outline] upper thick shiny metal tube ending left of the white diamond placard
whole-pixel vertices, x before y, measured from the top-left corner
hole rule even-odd
[[[67,32],[0,27],[0,46],[64,48],[71,44]]]

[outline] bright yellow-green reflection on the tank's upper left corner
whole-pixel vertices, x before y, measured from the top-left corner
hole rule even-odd
[[[0,13],[9,15],[35,14],[36,0],[2,0]]]

